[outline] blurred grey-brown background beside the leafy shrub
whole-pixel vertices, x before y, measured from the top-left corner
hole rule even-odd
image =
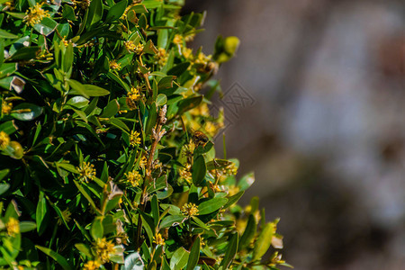
[[[194,47],[241,40],[218,75],[228,157],[255,171],[242,203],[257,195],[281,218],[287,262],[405,269],[404,2],[185,3],[207,11]]]

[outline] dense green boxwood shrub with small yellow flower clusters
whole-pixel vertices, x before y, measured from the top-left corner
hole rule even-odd
[[[277,220],[236,204],[254,176],[211,142],[238,39],[188,49],[182,2],[0,1],[0,268],[284,265],[261,261]]]

